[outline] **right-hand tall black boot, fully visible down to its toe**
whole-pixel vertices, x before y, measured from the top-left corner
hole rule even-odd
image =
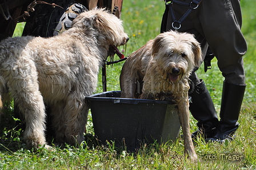
[[[242,106],[243,95],[245,94],[245,87],[246,84],[236,85],[223,82],[221,112],[219,114],[221,120],[214,136],[207,138],[206,141],[223,142],[234,139],[234,133],[239,126],[237,120]]]

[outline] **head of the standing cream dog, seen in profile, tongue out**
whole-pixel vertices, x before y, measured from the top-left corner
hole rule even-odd
[[[98,34],[103,35],[102,38],[105,38],[106,44],[110,47],[110,56],[113,56],[115,53],[121,55],[117,46],[122,46],[129,40],[128,35],[123,30],[122,21],[104,9],[93,9],[81,13],[74,19],[72,26],[82,26],[82,29],[85,31],[90,29],[98,30]],[[98,36],[98,38],[101,37]]]

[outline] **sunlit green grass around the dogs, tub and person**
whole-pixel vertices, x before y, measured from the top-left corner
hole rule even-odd
[[[37,152],[25,149],[22,141],[23,129],[20,121],[12,118],[13,107],[8,107],[2,118],[8,125],[0,131],[0,169],[256,169],[256,14],[254,0],[242,0],[242,31],[248,43],[248,51],[244,56],[246,69],[246,92],[243,100],[237,138],[224,144],[205,143],[202,139],[195,142],[198,163],[191,163],[183,156],[181,137],[175,143],[154,144],[131,153],[109,147],[91,147],[83,143],[80,148],[55,146],[53,151],[44,148]],[[164,3],[155,1],[123,2],[122,20],[130,40],[121,50],[126,56],[137,50],[149,39],[159,34]],[[15,35],[21,35],[21,29]],[[123,63],[107,67],[107,90],[119,90],[118,77]],[[215,107],[219,112],[223,77],[218,70],[217,60],[212,62],[213,68],[207,73],[203,67],[197,71],[199,78],[205,80]],[[99,74],[98,91],[102,92],[101,74]],[[106,111],[107,114],[107,111]],[[196,121],[191,117],[191,132],[197,129]],[[91,118],[87,125],[89,133],[93,133]]]

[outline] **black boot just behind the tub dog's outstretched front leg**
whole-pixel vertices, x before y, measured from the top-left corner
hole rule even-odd
[[[218,116],[203,80],[195,86],[190,83],[189,96],[192,98],[189,110],[198,121],[198,129],[192,133],[192,138],[195,139],[198,135],[203,135],[205,139],[212,137],[218,124]]]

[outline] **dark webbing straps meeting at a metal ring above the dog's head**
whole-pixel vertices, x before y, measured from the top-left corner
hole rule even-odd
[[[173,19],[173,23],[172,23],[171,26],[173,26],[173,28],[175,30],[180,29],[181,28],[181,23],[187,18],[187,16],[189,16],[189,14],[194,9],[197,9],[197,7],[201,3],[201,1],[202,0],[192,0],[191,2],[183,2],[183,1],[178,1],[178,0],[165,1],[166,5],[169,6],[170,15],[171,15],[171,18]],[[167,3],[167,2],[170,2],[170,3]],[[173,3],[175,3],[177,5],[182,5],[182,6],[189,7],[189,9],[186,11],[186,13],[179,20],[177,20],[176,17],[175,17],[174,10],[173,10]]]

